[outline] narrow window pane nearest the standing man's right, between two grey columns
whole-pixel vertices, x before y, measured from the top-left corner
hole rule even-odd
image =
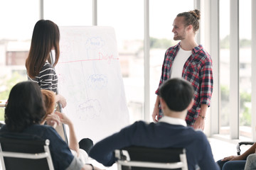
[[[220,134],[230,134],[230,1],[220,0]]]

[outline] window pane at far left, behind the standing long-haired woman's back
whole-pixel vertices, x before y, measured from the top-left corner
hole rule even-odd
[[[25,60],[33,26],[39,18],[39,1],[0,1],[0,99],[7,99],[11,87],[26,80]],[[4,120],[4,109],[0,109]]]

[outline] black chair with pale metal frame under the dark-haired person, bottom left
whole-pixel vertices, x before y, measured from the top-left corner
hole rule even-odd
[[[2,169],[54,169],[49,140],[21,140],[0,137]]]

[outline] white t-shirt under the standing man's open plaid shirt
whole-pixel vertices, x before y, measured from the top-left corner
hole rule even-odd
[[[188,57],[192,55],[192,51],[185,51],[181,47],[174,59],[174,63],[171,66],[171,79],[182,78],[182,70],[184,64],[188,60]]]

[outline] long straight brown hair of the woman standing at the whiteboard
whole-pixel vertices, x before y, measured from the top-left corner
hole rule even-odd
[[[50,50],[55,49],[55,62],[60,57],[60,30],[58,26],[49,20],[39,20],[34,29],[31,40],[31,47],[26,59],[28,76],[38,76],[46,60],[50,62]],[[50,62],[51,63],[51,62]]]

